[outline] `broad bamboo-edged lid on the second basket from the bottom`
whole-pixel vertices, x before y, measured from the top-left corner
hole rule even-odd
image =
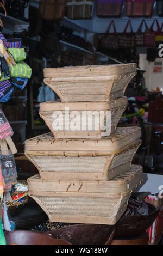
[[[52,132],[45,133],[43,135],[36,136],[34,138],[27,139],[25,141],[26,151],[62,151],[72,152],[71,147],[73,145],[73,151],[77,153],[81,151],[87,151],[91,153],[101,154],[101,151],[106,151],[106,148],[116,145],[115,148],[123,148],[127,144],[134,143],[141,137],[140,127],[118,127],[112,135],[109,137],[103,137],[101,139],[55,139]],[[46,154],[46,151],[45,151]],[[108,154],[108,153],[107,153]]]

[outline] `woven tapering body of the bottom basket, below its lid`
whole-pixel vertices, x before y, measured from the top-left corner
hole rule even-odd
[[[130,179],[130,175],[128,178]],[[134,180],[133,190],[141,181],[142,175],[139,175]],[[79,193],[47,190],[48,188],[46,191],[29,191],[29,196],[36,200],[50,221],[93,224],[115,224],[126,210],[132,192],[130,190],[125,193]]]

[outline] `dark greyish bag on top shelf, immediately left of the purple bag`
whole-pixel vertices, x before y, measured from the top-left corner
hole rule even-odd
[[[68,19],[91,19],[94,0],[67,0],[66,16]]]

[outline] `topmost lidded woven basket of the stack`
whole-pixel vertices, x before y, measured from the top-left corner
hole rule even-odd
[[[122,97],[136,64],[44,69],[44,82],[62,102],[110,101]]]

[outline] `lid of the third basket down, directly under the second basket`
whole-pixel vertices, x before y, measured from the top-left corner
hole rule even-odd
[[[45,133],[25,141],[28,155],[36,156],[108,156],[141,137],[140,127],[117,127],[115,133],[102,139],[54,139]]]

